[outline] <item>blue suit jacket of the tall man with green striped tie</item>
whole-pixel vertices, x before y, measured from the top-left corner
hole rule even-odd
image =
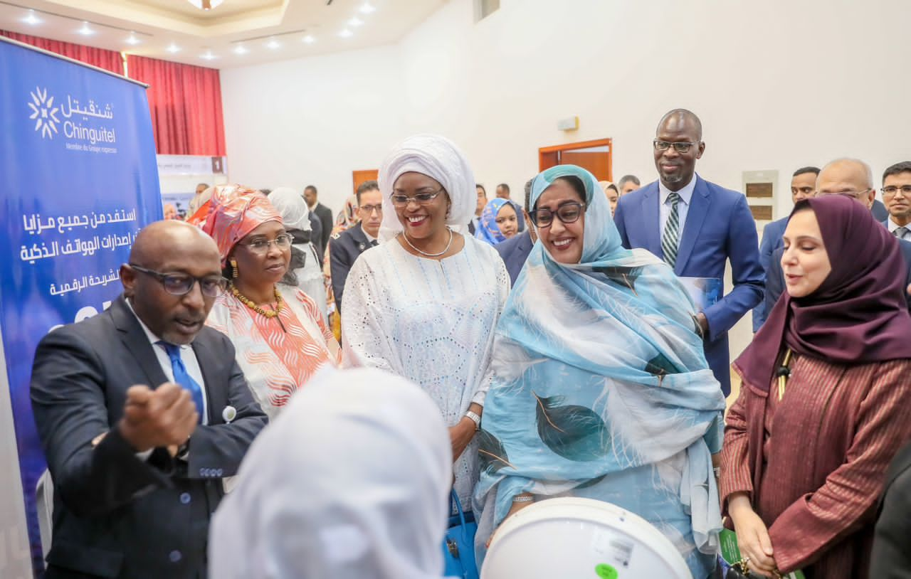
[[[657,181],[619,198],[614,221],[624,247],[648,249],[664,258],[659,204]],[[759,262],[756,224],[746,198],[697,175],[674,273],[681,277],[724,279],[728,259],[734,287],[703,311],[709,320],[705,357],[725,396],[731,391],[727,332],[763,299],[765,276]]]

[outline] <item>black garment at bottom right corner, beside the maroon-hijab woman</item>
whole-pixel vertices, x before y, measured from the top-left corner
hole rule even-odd
[[[885,475],[876,523],[871,579],[911,579],[911,444],[896,454]]]

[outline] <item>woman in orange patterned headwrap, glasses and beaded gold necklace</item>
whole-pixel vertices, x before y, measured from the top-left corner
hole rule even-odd
[[[253,396],[271,419],[323,364],[337,366],[341,350],[316,303],[291,279],[293,238],[265,195],[218,186],[200,218],[230,279],[206,323],[234,343]]]

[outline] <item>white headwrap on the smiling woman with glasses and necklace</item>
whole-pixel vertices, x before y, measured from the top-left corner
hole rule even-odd
[[[446,224],[462,227],[475,217],[475,174],[468,166],[468,159],[446,137],[415,135],[393,147],[380,168],[377,180],[383,193],[383,225],[380,226],[383,239],[390,239],[402,230],[389,196],[393,194],[396,179],[412,171],[435,178],[445,188],[452,202]]]

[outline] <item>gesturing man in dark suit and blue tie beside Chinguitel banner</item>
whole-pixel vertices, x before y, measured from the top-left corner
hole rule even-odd
[[[210,515],[266,424],[230,340],[204,325],[224,288],[200,229],[139,232],[124,293],[51,331],[32,369],[54,482],[46,579],[206,577]]]

